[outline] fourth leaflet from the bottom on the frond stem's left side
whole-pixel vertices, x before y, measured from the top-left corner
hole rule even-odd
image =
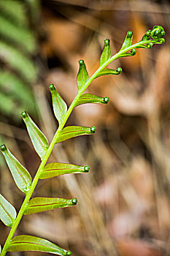
[[[61,98],[60,94],[58,94],[58,91],[56,90],[55,86],[53,84],[50,84],[49,86],[52,100],[53,100],[53,110],[55,113],[55,117],[57,118],[58,122],[60,123],[63,116],[66,114],[67,105],[66,102]]]

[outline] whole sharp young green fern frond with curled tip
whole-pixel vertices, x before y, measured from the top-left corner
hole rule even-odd
[[[154,44],[163,44],[163,42],[165,42],[165,39],[163,39],[164,35],[165,31],[163,30],[162,26],[154,26],[152,30],[147,31],[147,33],[144,34],[141,41],[132,45],[133,34],[131,31],[128,31],[120,51],[114,56],[111,56],[109,39],[104,40],[104,50],[101,53],[100,66],[90,78],[88,76],[84,61],[79,61],[80,69],[77,75],[78,92],[68,110],[66,102],[64,102],[60,94],[58,94],[55,86],[51,84],[49,87],[53,99],[53,110],[59,126],[55,132],[53,140],[50,143],[50,146],[48,145],[45,135],[43,135],[28,114],[26,112],[21,113],[23,121],[26,123],[28,134],[31,138],[33,146],[37,154],[39,154],[39,157],[42,159],[42,162],[39,165],[39,169],[37,170],[33,181],[31,181],[31,176],[28,173],[28,170],[26,170],[26,168],[23,167],[23,165],[21,165],[17,159],[15,159],[6,146],[1,146],[1,151],[4,154],[7,164],[9,165],[9,169],[11,170],[12,176],[15,179],[15,183],[17,184],[18,188],[26,194],[25,200],[23,201],[18,214],[16,214],[15,208],[2,195],[0,195],[0,219],[5,225],[11,227],[9,236],[7,237],[1,251],[1,256],[6,255],[7,252],[20,251],[50,252],[52,254],[62,256],[71,255],[70,251],[66,251],[65,249],[60,248],[44,238],[27,235],[15,236],[13,238],[15,235],[15,230],[17,229],[23,215],[36,214],[42,211],[74,206],[77,204],[76,198],[68,200],[55,197],[33,197],[31,199],[39,179],[53,178],[67,173],[87,173],[90,170],[88,165],[83,167],[80,165],[71,165],[59,162],[46,165],[55,143],[59,143],[63,140],[68,140],[80,135],[92,135],[94,132],[96,132],[96,127],[93,126],[64,127],[66,121],[72,113],[72,110],[78,105],[85,103],[107,104],[109,102],[108,97],[98,97],[93,94],[84,94],[84,92],[94,79],[102,75],[119,75],[122,72],[120,67],[117,69],[107,68],[112,61],[125,56],[134,56],[136,54],[136,49],[138,48],[150,49]]]

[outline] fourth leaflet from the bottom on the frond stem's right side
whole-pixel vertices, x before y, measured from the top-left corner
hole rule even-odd
[[[69,140],[80,135],[91,135],[96,132],[96,127],[76,127],[70,126],[63,128],[58,132],[58,138],[55,143],[61,142],[63,140]]]

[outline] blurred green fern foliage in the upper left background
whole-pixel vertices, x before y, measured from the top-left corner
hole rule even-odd
[[[0,1],[0,113],[15,120],[20,120],[23,110],[35,113],[31,85],[37,78],[36,35],[32,19],[38,2]]]

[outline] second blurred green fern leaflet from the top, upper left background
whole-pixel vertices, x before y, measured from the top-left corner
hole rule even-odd
[[[16,26],[15,23],[7,20],[7,18],[3,18],[1,15],[0,24],[1,37],[16,43],[16,45],[28,53],[35,52],[36,40],[32,31],[26,27]]]

